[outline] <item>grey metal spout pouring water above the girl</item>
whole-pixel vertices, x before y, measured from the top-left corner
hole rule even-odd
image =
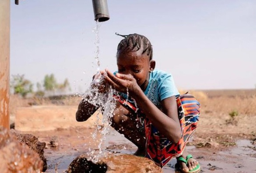
[[[107,0],[92,0],[94,20],[104,22],[109,20]]]

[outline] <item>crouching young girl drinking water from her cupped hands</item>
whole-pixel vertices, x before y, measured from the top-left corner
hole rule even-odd
[[[104,86],[111,85],[120,92],[113,95],[116,110],[112,126],[138,147],[135,155],[147,157],[161,167],[177,157],[182,172],[200,172],[199,163],[183,152],[197,127],[199,103],[189,106],[195,113],[184,118],[183,98],[179,97],[171,74],[155,70],[150,41],[139,34],[120,36],[124,39],[117,48],[118,71],[101,72],[104,82],[99,87],[100,92],[107,92]],[[186,97],[193,100],[193,96]],[[82,100],[77,121],[87,120],[97,108]]]

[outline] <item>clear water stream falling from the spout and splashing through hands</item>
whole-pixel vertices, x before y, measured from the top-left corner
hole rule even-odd
[[[111,117],[113,117],[114,109],[115,109],[115,101],[113,99],[113,93],[115,92],[111,86],[108,86],[106,88],[108,92],[106,93],[101,93],[98,90],[98,87],[102,85],[102,82],[104,80],[103,76],[99,73],[100,71],[100,60],[99,60],[99,53],[100,53],[100,39],[99,39],[99,29],[100,29],[100,24],[97,21],[96,22],[96,27],[93,29],[93,32],[95,33],[96,39],[95,39],[95,45],[96,45],[96,55],[95,55],[95,60],[96,60],[96,65],[97,65],[97,74],[94,80],[92,81],[89,89],[85,92],[84,94],[84,101],[89,102],[93,104],[94,106],[99,107],[100,110],[102,110],[103,118],[100,122],[99,114],[100,112],[97,112],[97,124],[94,133],[92,134],[93,139],[96,141],[97,140],[97,134],[100,132],[101,138],[99,140],[99,145],[98,145],[98,150],[97,154],[95,153],[94,149],[89,148],[89,153],[90,155],[89,160],[93,162],[98,162],[99,158],[102,156],[105,156],[105,147],[103,146],[103,143],[106,139],[107,134],[109,133],[110,126],[111,126]],[[116,93],[115,93],[116,94]],[[126,103],[128,102],[129,98],[129,90],[127,88],[127,98],[126,98]],[[135,101],[134,101],[135,102]],[[135,103],[136,105],[136,103]],[[137,108],[137,105],[136,105]],[[121,136],[124,136],[121,134]]]

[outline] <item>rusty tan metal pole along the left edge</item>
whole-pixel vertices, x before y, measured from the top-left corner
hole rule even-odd
[[[0,0],[0,126],[10,129],[10,0]]]

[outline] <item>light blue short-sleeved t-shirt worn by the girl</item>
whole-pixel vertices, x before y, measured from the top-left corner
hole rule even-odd
[[[118,72],[114,72],[114,75],[116,73]],[[159,109],[162,109],[161,101],[163,99],[179,95],[172,75],[161,70],[154,70],[150,73],[149,83],[144,93]],[[127,94],[123,93],[122,95],[127,98]]]

